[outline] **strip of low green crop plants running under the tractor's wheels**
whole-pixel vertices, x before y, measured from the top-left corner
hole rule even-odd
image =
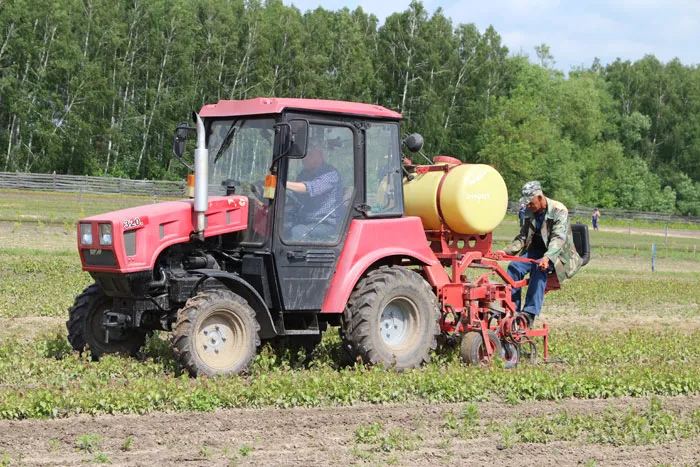
[[[208,411],[226,407],[294,407],[359,402],[558,400],[700,393],[700,335],[570,331],[553,336],[555,357],[569,362],[505,370],[462,365],[443,352],[420,370],[396,373],[342,366],[337,335],[328,333],[310,363],[266,348],[245,377],[178,375],[167,343],[154,338],[144,360],[108,356],[92,362],[64,336],[0,345],[0,418],[77,413]],[[590,349],[595,349],[591,351]],[[672,358],[669,358],[672,355]]]

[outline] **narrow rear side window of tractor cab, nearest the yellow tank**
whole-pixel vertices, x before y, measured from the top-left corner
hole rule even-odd
[[[399,126],[372,123],[365,131],[365,180],[368,216],[403,215]]]

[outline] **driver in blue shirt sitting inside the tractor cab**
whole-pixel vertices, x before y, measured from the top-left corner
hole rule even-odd
[[[299,201],[292,208],[295,212],[285,216],[287,237],[294,241],[332,240],[341,221],[341,213],[336,209],[342,201],[340,174],[326,163],[318,145],[310,146],[301,161],[303,168],[296,181],[286,185]]]

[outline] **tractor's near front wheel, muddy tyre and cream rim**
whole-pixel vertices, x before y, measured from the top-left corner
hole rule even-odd
[[[248,302],[230,290],[209,289],[178,311],[171,345],[192,376],[235,375],[255,357],[259,331]]]

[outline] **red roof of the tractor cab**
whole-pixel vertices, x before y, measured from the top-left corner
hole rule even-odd
[[[199,112],[201,117],[242,117],[245,115],[277,114],[283,110],[306,110],[374,118],[400,119],[401,114],[380,105],[358,102],[326,101],[320,99],[291,99],[258,97],[244,101],[220,100],[208,104]]]

